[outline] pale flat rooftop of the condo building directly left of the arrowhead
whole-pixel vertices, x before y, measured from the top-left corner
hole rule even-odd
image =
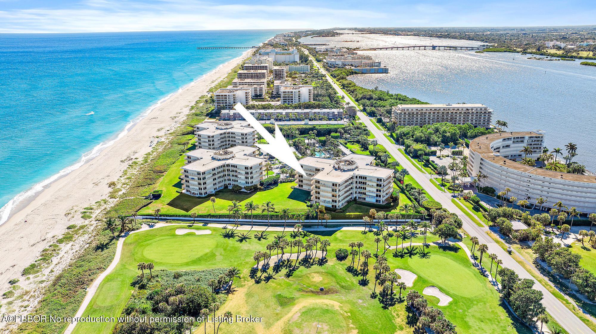
[[[257,150],[256,147],[249,146],[234,146],[226,150],[197,149],[186,153],[186,155],[195,157],[198,160],[182,166],[181,169],[194,172],[205,172],[209,171],[209,169],[228,163],[239,166],[254,166],[257,163],[265,161],[265,159],[253,156],[256,154]],[[221,160],[214,158],[218,153],[223,153],[224,151],[231,152],[229,158]]]

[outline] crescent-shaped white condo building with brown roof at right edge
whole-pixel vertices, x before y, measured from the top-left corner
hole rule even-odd
[[[536,166],[522,165],[524,146],[532,147],[527,157],[536,159],[544,147],[542,131],[502,132],[474,138],[470,142],[468,173],[486,178],[479,180],[482,187],[495,188],[496,193],[509,188],[507,197],[527,200],[535,204],[543,198],[543,209],[561,201],[564,206],[576,207],[579,212],[596,213],[596,177],[549,171]],[[539,206],[539,205],[538,205]]]

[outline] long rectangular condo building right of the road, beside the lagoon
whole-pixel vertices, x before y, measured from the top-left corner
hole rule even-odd
[[[479,104],[397,105],[393,106],[393,121],[397,125],[427,125],[440,122],[470,123],[474,127],[491,126],[492,110]]]

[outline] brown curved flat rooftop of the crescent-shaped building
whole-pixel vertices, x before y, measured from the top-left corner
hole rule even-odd
[[[474,140],[470,141],[470,150],[478,153],[485,160],[494,162],[498,165],[507,168],[515,169],[516,171],[526,172],[540,177],[547,177],[553,179],[564,179],[576,182],[596,183],[596,177],[594,176],[555,172],[549,171],[548,169],[541,169],[522,165],[519,162],[505,159],[501,155],[498,155],[498,153],[497,155],[495,155],[493,150],[491,149],[491,144],[499,139],[519,136],[544,136],[544,134],[535,131],[492,133],[486,136],[474,138]]]

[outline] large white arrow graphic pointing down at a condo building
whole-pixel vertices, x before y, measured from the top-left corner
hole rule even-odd
[[[275,124],[275,138],[257,121],[249,111],[244,108],[243,105],[238,103],[234,106],[234,109],[237,112],[240,112],[240,115],[246,119],[247,122],[250,123],[250,126],[256,130],[263,139],[267,141],[268,144],[256,144],[259,149],[261,149],[265,153],[269,153],[270,155],[276,157],[281,162],[285,163],[286,165],[290,166],[294,169],[294,171],[299,172],[300,174],[306,176],[305,172],[300,166],[300,163],[294,156],[294,152],[290,149],[288,142],[285,141],[283,134],[281,134],[280,128],[277,127]]]

